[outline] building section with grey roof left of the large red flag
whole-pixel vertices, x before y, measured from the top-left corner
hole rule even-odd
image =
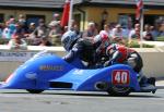
[[[24,15],[27,23],[44,18],[50,22],[54,13],[61,13],[65,0],[0,0],[0,23],[11,16]]]

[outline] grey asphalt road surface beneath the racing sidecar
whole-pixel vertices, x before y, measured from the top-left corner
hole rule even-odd
[[[109,97],[106,92],[0,90],[0,112],[164,112],[164,89]]]

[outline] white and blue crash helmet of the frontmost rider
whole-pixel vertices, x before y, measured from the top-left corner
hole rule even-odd
[[[71,47],[73,46],[74,41],[79,38],[75,32],[68,30],[61,37],[61,43],[67,51],[70,51]]]

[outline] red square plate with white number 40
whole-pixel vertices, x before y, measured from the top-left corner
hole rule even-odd
[[[113,84],[114,85],[129,85],[130,75],[129,71],[126,70],[115,70],[113,71]]]

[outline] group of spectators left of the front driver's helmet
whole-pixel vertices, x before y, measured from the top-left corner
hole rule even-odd
[[[0,24],[0,39],[9,40],[11,49],[25,49],[26,46],[58,46],[63,34],[60,27],[59,14],[54,14],[49,24],[39,18],[36,23],[26,22],[21,14],[15,20],[11,16],[4,24]]]

